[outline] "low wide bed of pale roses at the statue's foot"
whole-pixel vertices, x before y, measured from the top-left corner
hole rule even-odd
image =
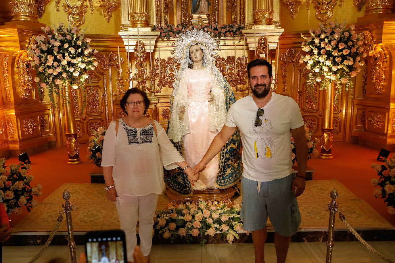
[[[201,244],[206,242],[203,235],[213,237],[219,232],[226,241],[232,243],[234,238],[239,239],[237,231],[243,227],[240,210],[240,205],[217,206],[209,205],[205,201],[200,201],[198,204],[181,204],[178,207],[169,206],[167,210],[156,211],[154,231],[156,235],[165,239],[185,237],[186,242],[190,242],[192,237],[200,236]]]

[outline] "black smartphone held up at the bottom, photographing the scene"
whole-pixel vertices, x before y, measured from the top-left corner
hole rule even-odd
[[[87,263],[127,263],[125,232],[89,231],[85,234]]]

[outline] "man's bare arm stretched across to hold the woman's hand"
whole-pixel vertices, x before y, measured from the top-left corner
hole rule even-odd
[[[203,171],[206,165],[214,158],[214,156],[219,153],[228,142],[229,138],[237,131],[237,127],[228,127],[224,125],[221,131],[214,137],[213,142],[211,142],[207,153],[203,156],[201,161],[194,167],[194,174]],[[306,144],[307,145],[307,144]]]

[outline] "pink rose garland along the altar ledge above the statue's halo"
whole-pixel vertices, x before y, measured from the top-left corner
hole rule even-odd
[[[152,31],[160,31],[160,37],[170,39],[170,37],[176,37],[179,34],[182,34],[186,30],[194,30],[194,29],[200,29],[201,26],[188,26],[186,24],[182,25],[173,25],[173,24],[168,24],[167,26],[153,26]],[[245,24],[217,24],[217,23],[211,23],[211,24],[206,24],[203,27],[203,30],[205,32],[208,32],[213,35],[214,38],[218,38],[218,40],[221,39],[221,37],[229,37],[229,36],[235,36],[235,35],[241,35],[243,34],[243,29],[245,28]]]

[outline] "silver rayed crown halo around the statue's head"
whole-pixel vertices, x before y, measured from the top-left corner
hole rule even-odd
[[[182,63],[186,54],[189,53],[189,48],[192,43],[199,43],[203,45],[209,56],[215,58],[217,54],[217,49],[219,44],[216,39],[212,37],[209,33],[204,32],[203,29],[186,30],[185,33],[179,35],[179,39],[176,41],[175,45],[175,58],[179,63]]]

